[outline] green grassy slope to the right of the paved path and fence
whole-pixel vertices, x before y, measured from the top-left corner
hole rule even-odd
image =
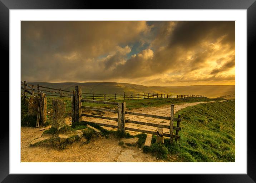
[[[180,141],[166,145],[184,162],[235,162],[235,101],[202,103],[178,111]]]

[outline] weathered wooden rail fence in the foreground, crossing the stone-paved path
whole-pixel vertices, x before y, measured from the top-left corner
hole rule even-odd
[[[82,98],[82,89],[80,86],[75,87],[75,91],[73,91],[73,95],[72,95],[71,99],[72,99],[72,125],[74,125],[74,126],[79,125],[79,123],[81,123],[81,122],[90,122],[90,123],[98,124],[100,126],[117,128],[118,131],[122,132],[122,134],[125,134],[125,130],[129,130],[129,131],[136,131],[136,132],[142,132],[142,133],[156,134],[157,136],[162,135],[162,137],[163,136],[169,137],[171,143],[173,142],[173,138],[176,139],[176,141],[180,138],[180,136],[178,135],[178,132],[181,130],[181,127],[179,127],[179,124],[181,122],[181,116],[179,115],[178,118],[174,118],[174,104],[171,104],[170,117],[150,115],[150,114],[146,114],[146,113],[130,112],[130,111],[125,111],[125,102],[109,102],[109,101],[96,101],[96,100],[83,99]],[[118,109],[113,110],[113,109],[83,106],[82,102],[117,105]],[[85,113],[82,113],[82,109],[114,112],[114,113],[117,113],[117,118],[85,114]],[[126,120],[125,119],[126,114],[136,115],[136,116],[146,116],[146,117],[158,118],[158,119],[163,119],[163,120],[170,120],[170,125]],[[98,122],[92,122],[92,121],[84,121],[84,120],[82,120],[82,116],[117,121],[117,125],[98,123]],[[173,126],[173,121],[177,121],[177,126],[175,126],[175,127]],[[157,129],[157,131],[147,131],[147,130],[142,130],[142,129],[129,128],[129,127],[125,127],[125,123],[135,123],[135,124],[141,124],[141,125],[146,125],[146,126],[153,126],[153,127],[157,127],[158,129]],[[163,128],[169,129],[170,133],[163,133]],[[173,130],[176,130],[176,134],[173,134]],[[159,131],[161,131],[162,134],[159,134]]]

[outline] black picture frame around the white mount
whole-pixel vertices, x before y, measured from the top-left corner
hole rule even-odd
[[[11,9],[246,9],[247,10],[247,96],[254,96],[253,91],[254,77],[249,75],[249,70],[254,70],[255,62],[255,38],[256,38],[256,0],[132,0],[126,1],[122,4],[121,1],[70,1],[70,0],[0,0],[0,34],[1,34],[1,63],[6,63],[5,68],[9,68],[9,10]],[[8,62],[7,62],[8,60]],[[245,61],[246,62],[246,61]],[[7,72],[8,70],[5,69]],[[253,73],[253,72],[250,72]],[[2,78],[6,78],[9,73],[3,73]],[[248,85],[251,83],[251,85]],[[6,84],[6,83],[5,83]],[[8,83],[9,86],[9,83]],[[1,90],[1,96],[9,96],[9,90]],[[9,88],[9,87],[8,87]],[[10,97],[10,96],[9,96]],[[255,97],[254,97],[255,98]],[[247,100],[247,114],[251,114],[254,108],[251,104],[255,103],[253,97]],[[7,97],[3,97],[2,102],[9,103]],[[251,107],[250,107],[251,105]],[[10,106],[11,107],[11,106]],[[5,110],[9,105],[5,105]],[[10,108],[11,110],[11,108]],[[4,113],[4,112],[3,112]],[[5,112],[7,114],[7,111]],[[9,121],[8,116],[5,121]],[[248,116],[249,117],[249,116]],[[232,182],[241,183],[256,182],[256,156],[255,156],[255,137],[253,123],[254,120],[250,118],[245,119],[243,123],[247,122],[247,174],[187,174],[187,175],[163,175],[169,181],[184,181],[189,179],[189,182]],[[2,126],[3,125],[3,126]],[[58,182],[74,182],[74,180],[86,177],[87,180],[91,178],[102,178],[102,176],[95,175],[28,175],[28,174],[9,174],[9,124],[2,123],[0,132],[0,181],[2,182],[53,182],[54,178],[58,178]],[[104,178],[110,178],[111,175],[105,175]],[[113,175],[112,175],[113,176]],[[134,181],[134,175],[124,175],[122,182]],[[151,179],[153,175],[147,175],[143,178]],[[116,177],[116,176],[115,176]],[[146,179],[145,179],[146,178]],[[111,178],[112,182],[117,180]]]

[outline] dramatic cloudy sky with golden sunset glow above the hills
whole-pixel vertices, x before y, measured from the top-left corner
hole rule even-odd
[[[21,81],[235,85],[235,21],[21,21]]]

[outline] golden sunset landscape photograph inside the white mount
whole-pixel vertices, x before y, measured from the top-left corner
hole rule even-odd
[[[20,162],[236,162],[236,21],[21,20]]]

